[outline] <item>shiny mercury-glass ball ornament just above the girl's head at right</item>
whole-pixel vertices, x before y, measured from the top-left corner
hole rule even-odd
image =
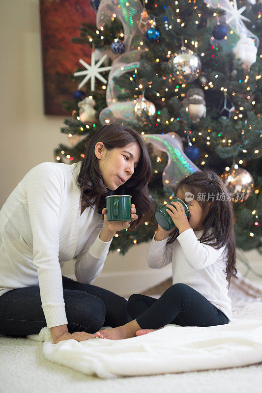
[[[221,177],[233,202],[243,202],[253,191],[254,179],[252,175],[246,169],[238,168],[236,164],[226,170]]]

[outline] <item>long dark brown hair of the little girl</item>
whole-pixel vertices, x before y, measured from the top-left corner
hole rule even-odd
[[[202,208],[203,233],[199,239],[201,243],[208,244],[215,249],[223,246],[227,252],[227,280],[235,276],[235,233],[234,214],[231,199],[227,187],[222,179],[212,170],[194,172],[182,179],[175,187],[175,195],[178,190],[190,192],[194,195]],[[174,242],[179,235],[177,228],[169,235],[168,243]],[[211,244],[210,244],[211,243]]]

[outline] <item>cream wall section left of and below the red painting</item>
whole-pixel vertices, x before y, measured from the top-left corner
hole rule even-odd
[[[54,161],[53,149],[67,136],[62,116],[43,114],[39,4],[0,1],[0,207],[37,164]]]

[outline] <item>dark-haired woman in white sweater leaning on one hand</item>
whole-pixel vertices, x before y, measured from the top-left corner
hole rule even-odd
[[[152,210],[150,176],[143,138],[118,124],[91,138],[82,162],[29,170],[0,210],[0,333],[21,337],[47,326],[54,343],[82,341],[130,320],[125,299],[90,282],[115,233]],[[112,194],[132,196],[131,224],[107,221]],[[75,256],[77,281],[59,265]]]

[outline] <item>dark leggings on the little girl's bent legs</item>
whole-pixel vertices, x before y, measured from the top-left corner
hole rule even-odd
[[[127,310],[141,329],[159,329],[167,324],[205,327],[229,323],[228,317],[201,293],[182,283],[172,285],[159,299],[131,295]]]

